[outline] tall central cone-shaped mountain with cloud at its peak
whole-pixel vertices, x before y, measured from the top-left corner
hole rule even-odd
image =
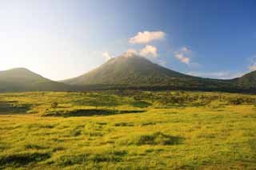
[[[166,69],[145,57],[123,54],[82,76],[62,81],[85,89],[186,89],[238,91],[234,80],[194,77]]]

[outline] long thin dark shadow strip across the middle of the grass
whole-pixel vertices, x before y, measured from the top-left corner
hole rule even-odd
[[[57,110],[43,114],[43,117],[91,117],[91,116],[109,116],[125,113],[144,113],[145,110],[112,110],[112,109],[74,109]]]

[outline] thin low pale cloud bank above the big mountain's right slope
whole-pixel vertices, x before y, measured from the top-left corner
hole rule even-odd
[[[229,71],[219,71],[219,72],[188,72],[187,74],[196,77],[206,77],[206,78],[218,78],[218,79],[232,79],[236,77],[241,77],[244,73],[232,73]]]

